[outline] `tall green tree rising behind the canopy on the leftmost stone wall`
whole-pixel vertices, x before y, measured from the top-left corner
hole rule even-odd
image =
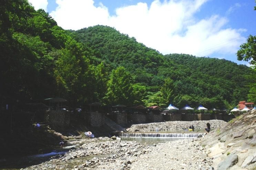
[[[87,87],[90,65],[79,43],[69,40],[65,46],[65,49],[59,50],[54,75],[61,94],[75,106],[76,103],[91,98],[91,89]]]

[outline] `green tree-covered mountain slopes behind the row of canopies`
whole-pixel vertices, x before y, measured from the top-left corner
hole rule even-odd
[[[63,97],[72,107],[102,102],[228,107],[246,100],[253,69],[231,61],[162,55],[97,25],[63,30],[26,0],[0,7],[0,95],[24,102]]]

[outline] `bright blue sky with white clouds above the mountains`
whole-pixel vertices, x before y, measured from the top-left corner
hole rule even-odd
[[[108,25],[162,54],[183,53],[238,61],[256,35],[255,0],[29,0],[63,29]]]

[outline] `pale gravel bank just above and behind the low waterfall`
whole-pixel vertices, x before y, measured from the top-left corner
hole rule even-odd
[[[215,129],[218,127],[225,126],[227,122],[222,120],[209,120],[209,121],[172,121],[172,122],[159,122],[159,123],[147,123],[147,124],[135,124],[126,130],[128,132],[152,132],[155,131],[156,128],[158,131],[181,131],[187,129],[190,125],[195,127],[195,130],[204,129],[206,127],[206,123],[209,122],[211,124],[211,128]]]

